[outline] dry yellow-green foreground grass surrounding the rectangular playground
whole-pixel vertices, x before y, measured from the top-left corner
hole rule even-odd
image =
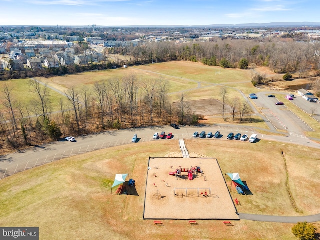
[[[262,140],[258,144],[197,140],[186,140],[190,152],[216,157],[223,174],[239,172],[250,188],[252,195],[246,196],[231,190],[232,198],[240,202],[238,212],[298,215],[286,190],[283,151],[296,205],[305,215],[318,213],[319,150]],[[188,221],[164,220],[159,227],[142,220],[148,157],[177,151],[177,140],[129,144],[4,178],[0,225],[39,226],[40,239],[294,239],[293,224],[240,220],[225,226],[219,220],[200,220],[191,227]],[[115,173],[129,173],[138,196],[111,194]]]

